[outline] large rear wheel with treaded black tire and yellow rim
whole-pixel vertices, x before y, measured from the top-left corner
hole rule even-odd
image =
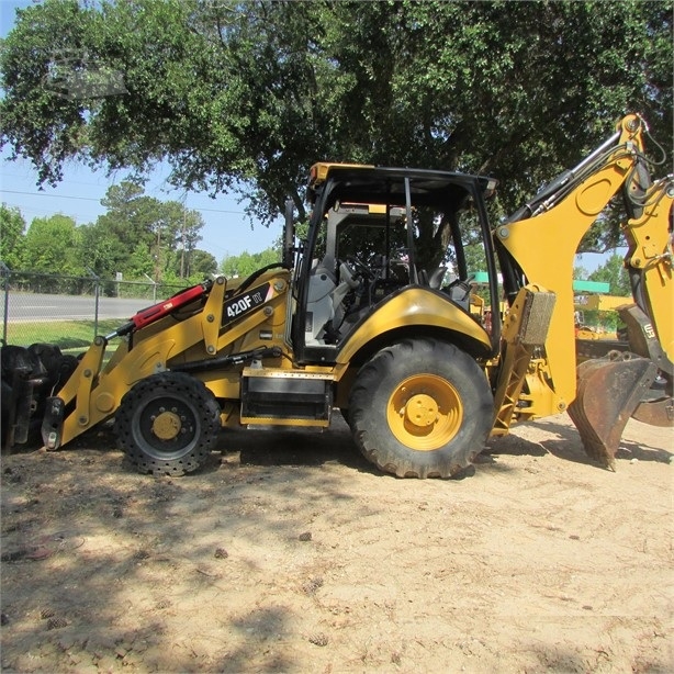
[[[398,478],[450,478],[482,451],[494,401],[480,366],[453,345],[408,339],[366,363],[349,400],[364,457]]]

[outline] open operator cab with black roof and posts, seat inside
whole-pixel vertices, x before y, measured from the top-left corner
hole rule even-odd
[[[471,312],[471,273],[496,272],[484,196],[492,179],[420,169],[317,164],[308,234],[295,267],[292,342],[304,362],[334,362],[372,312],[411,288]],[[493,288],[492,288],[493,287]]]

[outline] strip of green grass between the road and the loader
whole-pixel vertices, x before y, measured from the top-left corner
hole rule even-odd
[[[109,335],[120,327],[119,318],[99,321],[99,335]],[[45,321],[44,323],[8,323],[7,342],[30,346],[35,342],[55,344],[64,352],[80,351],[89,348],[94,334],[93,321]]]

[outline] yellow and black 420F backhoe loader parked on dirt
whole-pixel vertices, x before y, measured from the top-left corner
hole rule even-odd
[[[324,428],[337,408],[382,470],[447,478],[490,436],[569,412],[587,452],[613,467],[630,416],[674,422],[674,181],[651,179],[647,136],[640,116],[626,116],[495,228],[488,178],[317,164],[308,234],[294,246],[290,209],[281,263],[245,280],[217,277],[139,312],[97,337],[63,385],[36,368],[10,371],[9,435],[23,439],[37,409],[54,450],[114,417],[119,446],[138,470],[182,474],[226,442],[223,427]],[[619,193],[630,350],[576,371],[574,255]],[[451,269],[419,263],[424,220],[449,233]],[[476,239],[486,302],[470,283],[476,270],[465,251]],[[504,300],[503,316],[487,314]],[[649,397],[656,377],[665,390]]]

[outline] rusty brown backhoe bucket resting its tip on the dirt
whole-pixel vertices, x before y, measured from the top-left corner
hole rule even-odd
[[[655,380],[655,363],[629,351],[611,351],[577,369],[576,398],[569,405],[587,456],[615,470],[625,426]]]

